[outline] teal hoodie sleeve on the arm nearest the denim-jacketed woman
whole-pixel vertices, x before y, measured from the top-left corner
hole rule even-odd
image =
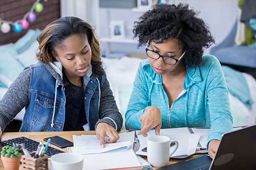
[[[149,101],[148,88],[145,80],[145,74],[140,64],[133,83],[134,87],[131,98],[125,113],[126,129],[141,129],[140,116],[143,114],[144,109],[148,106]]]

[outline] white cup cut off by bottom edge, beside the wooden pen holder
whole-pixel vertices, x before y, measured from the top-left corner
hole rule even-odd
[[[53,170],[82,170],[83,157],[71,153],[60,153],[51,157]]]

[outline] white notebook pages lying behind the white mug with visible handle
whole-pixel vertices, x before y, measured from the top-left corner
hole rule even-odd
[[[147,137],[154,136],[155,130],[151,130],[147,133]],[[170,140],[176,140],[179,143],[179,147],[177,151],[172,155],[172,158],[186,158],[190,155],[195,154],[197,149],[197,144],[200,138],[200,134],[178,134],[172,132],[172,129],[161,129],[160,135],[168,136]],[[142,149],[146,147],[146,139],[147,137],[143,137],[142,135],[139,135],[139,141],[140,141],[140,149],[136,152],[138,155],[145,155],[146,152],[143,152]],[[175,147],[170,148],[174,149]]]

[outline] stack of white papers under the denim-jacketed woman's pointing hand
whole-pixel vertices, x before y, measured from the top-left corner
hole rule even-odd
[[[101,148],[96,135],[73,135],[74,147],[67,152],[84,157],[83,169],[143,169],[151,167],[133,151],[135,132],[119,134],[116,143]]]

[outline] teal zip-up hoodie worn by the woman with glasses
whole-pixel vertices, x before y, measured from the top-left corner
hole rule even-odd
[[[148,60],[140,63],[130,102],[125,113],[126,129],[140,130],[140,116],[147,106],[161,111],[162,128],[210,127],[208,142],[221,140],[232,130],[228,90],[219,60],[212,55],[202,57],[198,66],[186,65],[183,90],[172,106]]]

